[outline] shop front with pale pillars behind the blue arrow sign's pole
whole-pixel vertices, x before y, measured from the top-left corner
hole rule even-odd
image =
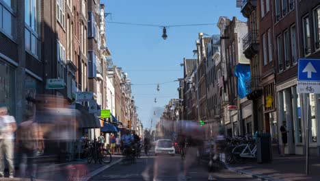
[[[276,87],[278,95],[278,132],[280,126],[285,125],[288,130],[288,144],[285,149],[286,154],[305,154],[304,144],[306,141],[305,132],[306,120],[303,119],[306,112],[307,100],[309,100],[310,109],[310,154],[316,155],[319,147],[317,133],[319,126],[317,124],[317,106],[319,106],[319,95],[308,94],[304,99],[301,94],[297,93],[297,80],[291,80],[284,85]],[[280,145],[282,145],[281,135],[278,136]]]

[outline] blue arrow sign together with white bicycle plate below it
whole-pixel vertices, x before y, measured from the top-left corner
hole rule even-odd
[[[299,59],[297,93],[320,93],[320,60]]]

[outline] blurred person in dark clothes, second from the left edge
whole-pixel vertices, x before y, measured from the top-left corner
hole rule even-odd
[[[29,163],[30,176],[28,177],[30,177],[31,180],[36,179],[37,166],[34,163],[34,158],[38,156],[39,140],[43,138],[42,134],[40,134],[40,132],[42,132],[41,128],[34,119],[34,111],[33,106],[27,106],[25,118],[18,126],[18,131],[16,132],[16,143],[22,154],[19,169],[21,177],[25,178]]]

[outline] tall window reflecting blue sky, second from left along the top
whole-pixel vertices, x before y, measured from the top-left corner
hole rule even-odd
[[[40,0],[25,0],[25,49],[40,59]]]

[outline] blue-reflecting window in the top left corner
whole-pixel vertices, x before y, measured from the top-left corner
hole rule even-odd
[[[6,36],[16,39],[16,0],[0,1],[0,29]]]

